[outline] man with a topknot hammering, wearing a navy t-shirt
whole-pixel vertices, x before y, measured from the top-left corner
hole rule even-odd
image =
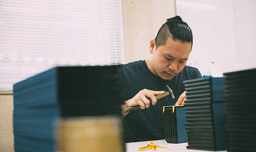
[[[176,16],[167,19],[150,42],[151,58],[122,66],[125,95],[122,109],[141,106],[123,115],[125,142],[164,139],[163,106],[183,105],[186,97],[183,81],[202,77],[197,68],[186,66],[192,43],[192,30]],[[156,95],[167,91],[166,85],[176,99],[165,96],[156,101]],[[151,98],[153,106],[147,98]]]

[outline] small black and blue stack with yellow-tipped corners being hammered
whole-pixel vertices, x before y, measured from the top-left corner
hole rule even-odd
[[[164,134],[167,143],[187,142],[185,109],[183,106],[163,106]]]

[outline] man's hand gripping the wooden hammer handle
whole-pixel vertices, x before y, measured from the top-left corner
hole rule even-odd
[[[150,98],[152,100],[152,105],[156,104],[156,95],[159,94],[163,94],[165,91],[152,91],[152,90],[148,90],[148,89],[143,89],[141,91],[138,92],[138,94],[136,94],[132,99],[129,99],[127,101],[125,101],[125,104],[122,106],[122,110],[130,107],[130,106],[136,106],[136,105],[140,105],[141,109],[145,109],[148,108],[150,105],[150,102],[148,101],[147,98]],[[123,112],[122,112],[123,114]],[[128,114],[125,113],[123,114],[123,117]]]

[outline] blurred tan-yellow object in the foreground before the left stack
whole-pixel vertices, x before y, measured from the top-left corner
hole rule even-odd
[[[122,152],[118,117],[64,118],[56,125],[61,152]]]

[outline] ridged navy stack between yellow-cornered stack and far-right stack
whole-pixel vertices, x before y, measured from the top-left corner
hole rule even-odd
[[[225,78],[201,78],[183,81],[187,91],[185,101],[187,149],[226,150]]]

